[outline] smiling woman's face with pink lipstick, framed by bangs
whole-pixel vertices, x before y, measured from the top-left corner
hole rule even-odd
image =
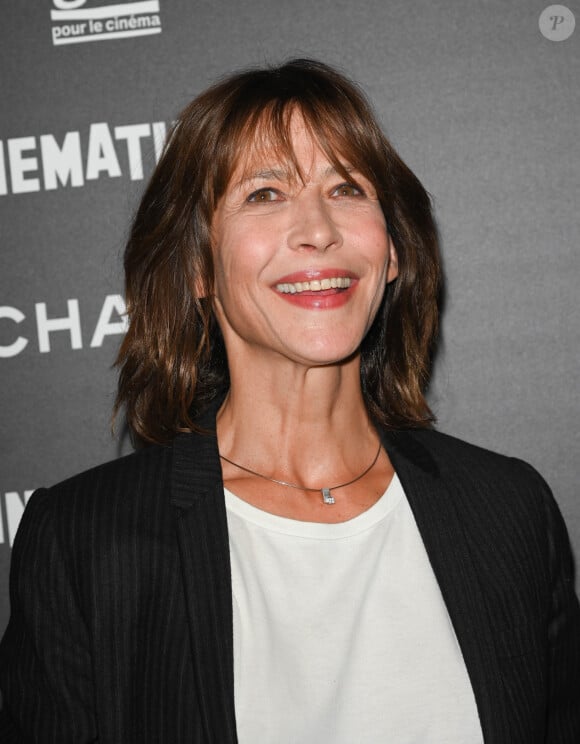
[[[308,366],[357,352],[397,275],[372,184],[336,171],[291,121],[303,174],[267,147],[234,172],[212,220],[215,310],[230,366],[274,354]]]

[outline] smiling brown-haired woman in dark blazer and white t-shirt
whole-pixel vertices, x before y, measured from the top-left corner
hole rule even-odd
[[[26,509],[13,740],[580,741],[565,528],[430,428],[436,231],[358,89],[295,60],[199,96],[125,269],[148,446]]]

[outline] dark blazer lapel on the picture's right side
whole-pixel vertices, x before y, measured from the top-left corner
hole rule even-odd
[[[383,444],[409,500],[447,605],[473,687],[484,741],[504,744],[509,738],[509,712],[505,710],[488,609],[456,507],[462,494],[447,490],[437,464],[412,433],[385,432]]]

